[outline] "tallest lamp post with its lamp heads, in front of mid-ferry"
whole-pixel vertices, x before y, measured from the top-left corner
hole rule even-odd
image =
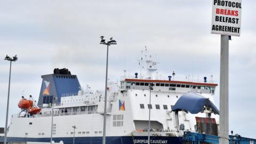
[[[106,115],[107,115],[107,82],[108,82],[108,46],[111,44],[116,44],[116,41],[113,39],[113,37],[110,37],[110,41],[107,43],[106,40],[103,39],[104,36],[100,36],[101,41],[100,44],[107,45],[107,63],[106,63],[106,82],[105,82],[105,102],[104,102],[104,120],[103,120],[103,138],[102,138],[102,144],[106,143]]]

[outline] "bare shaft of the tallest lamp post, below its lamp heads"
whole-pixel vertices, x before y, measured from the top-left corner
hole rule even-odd
[[[103,120],[102,144],[106,143],[107,83],[108,83],[108,44],[107,44],[107,64],[106,64],[106,83],[105,83],[105,102],[104,102],[104,120]]]

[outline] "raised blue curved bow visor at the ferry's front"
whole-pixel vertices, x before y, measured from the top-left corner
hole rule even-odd
[[[204,106],[212,108],[213,113],[219,115],[218,108],[214,106],[209,99],[197,93],[186,93],[181,95],[173,106],[172,111],[186,110],[191,114],[197,114],[203,110]]]

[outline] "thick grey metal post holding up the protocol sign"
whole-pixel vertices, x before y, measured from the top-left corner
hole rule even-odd
[[[220,143],[228,144],[228,59],[229,38],[221,35],[220,44]]]

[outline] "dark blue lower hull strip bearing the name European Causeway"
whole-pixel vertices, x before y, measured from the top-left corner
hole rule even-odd
[[[63,141],[64,144],[73,144],[73,137],[69,138],[53,138],[53,141]],[[0,142],[3,142],[3,137],[0,138]],[[8,142],[50,142],[50,138],[7,138]],[[146,144],[148,137],[106,137],[106,144]],[[102,144],[102,137],[76,137],[76,144]],[[151,144],[171,144],[182,143],[182,137],[150,137]]]

